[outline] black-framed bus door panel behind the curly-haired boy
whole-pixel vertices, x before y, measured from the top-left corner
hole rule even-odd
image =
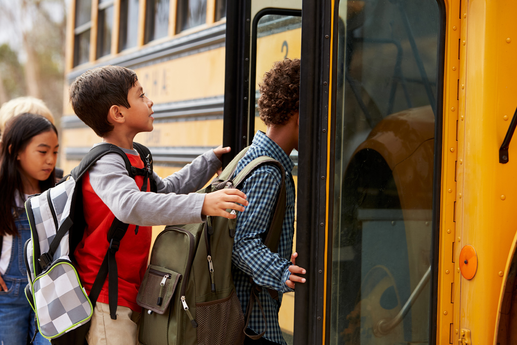
[[[223,144],[232,153],[223,156],[223,166],[251,145],[257,130],[266,131],[258,117],[258,84],[274,62],[300,58],[301,0],[227,0],[225,45]],[[296,186],[298,153],[290,156]],[[283,294],[279,323],[288,344],[293,343],[294,302],[294,293]]]

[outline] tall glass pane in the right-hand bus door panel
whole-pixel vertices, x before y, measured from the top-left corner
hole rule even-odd
[[[428,341],[438,22],[339,3],[330,344]]]

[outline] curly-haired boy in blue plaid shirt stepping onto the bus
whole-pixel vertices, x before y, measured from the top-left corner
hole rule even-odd
[[[246,313],[250,297],[250,278],[258,286],[278,292],[277,300],[266,289],[258,294],[266,320],[255,304],[246,333],[258,339],[247,337],[245,344],[285,344],[278,323],[282,294],[293,291],[295,282],[305,282],[305,278],[297,274],[305,274],[306,271],[295,266],[297,253],[292,254],[295,186],[291,175],[294,163],[289,158],[293,149],[298,149],[299,88],[299,59],[278,61],[265,73],[260,84],[258,110],[267,130],[265,133],[257,131],[236,169],[238,174],[253,159],[269,156],[282,164],[286,174],[285,215],[277,253],[272,253],[262,243],[261,235],[267,231],[273,217],[273,205],[282,181],[280,170],[276,166],[262,166],[246,179],[241,188],[248,197],[249,205],[237,218],[232,262],[235,288],[243,312]],[[262,334],[263,337],[260,337]]]

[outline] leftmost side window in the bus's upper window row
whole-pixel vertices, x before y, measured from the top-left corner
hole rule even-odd
[[[92,0],[77,0],[75,2],[73,66],[87,63],[89,60],[91,19]]]

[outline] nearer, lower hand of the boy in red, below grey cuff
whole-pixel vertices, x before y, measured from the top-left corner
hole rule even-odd
[[[238,203],[238,204],[237,204]],[[235,213],[226,212],[227,208],[243,212],[244,206],[248,206],[246,194],[236,188],[216,190],[205,194],[205,201],[201,208],[201,214],[205,216],[221,216],[224,218],[236,218]]]

